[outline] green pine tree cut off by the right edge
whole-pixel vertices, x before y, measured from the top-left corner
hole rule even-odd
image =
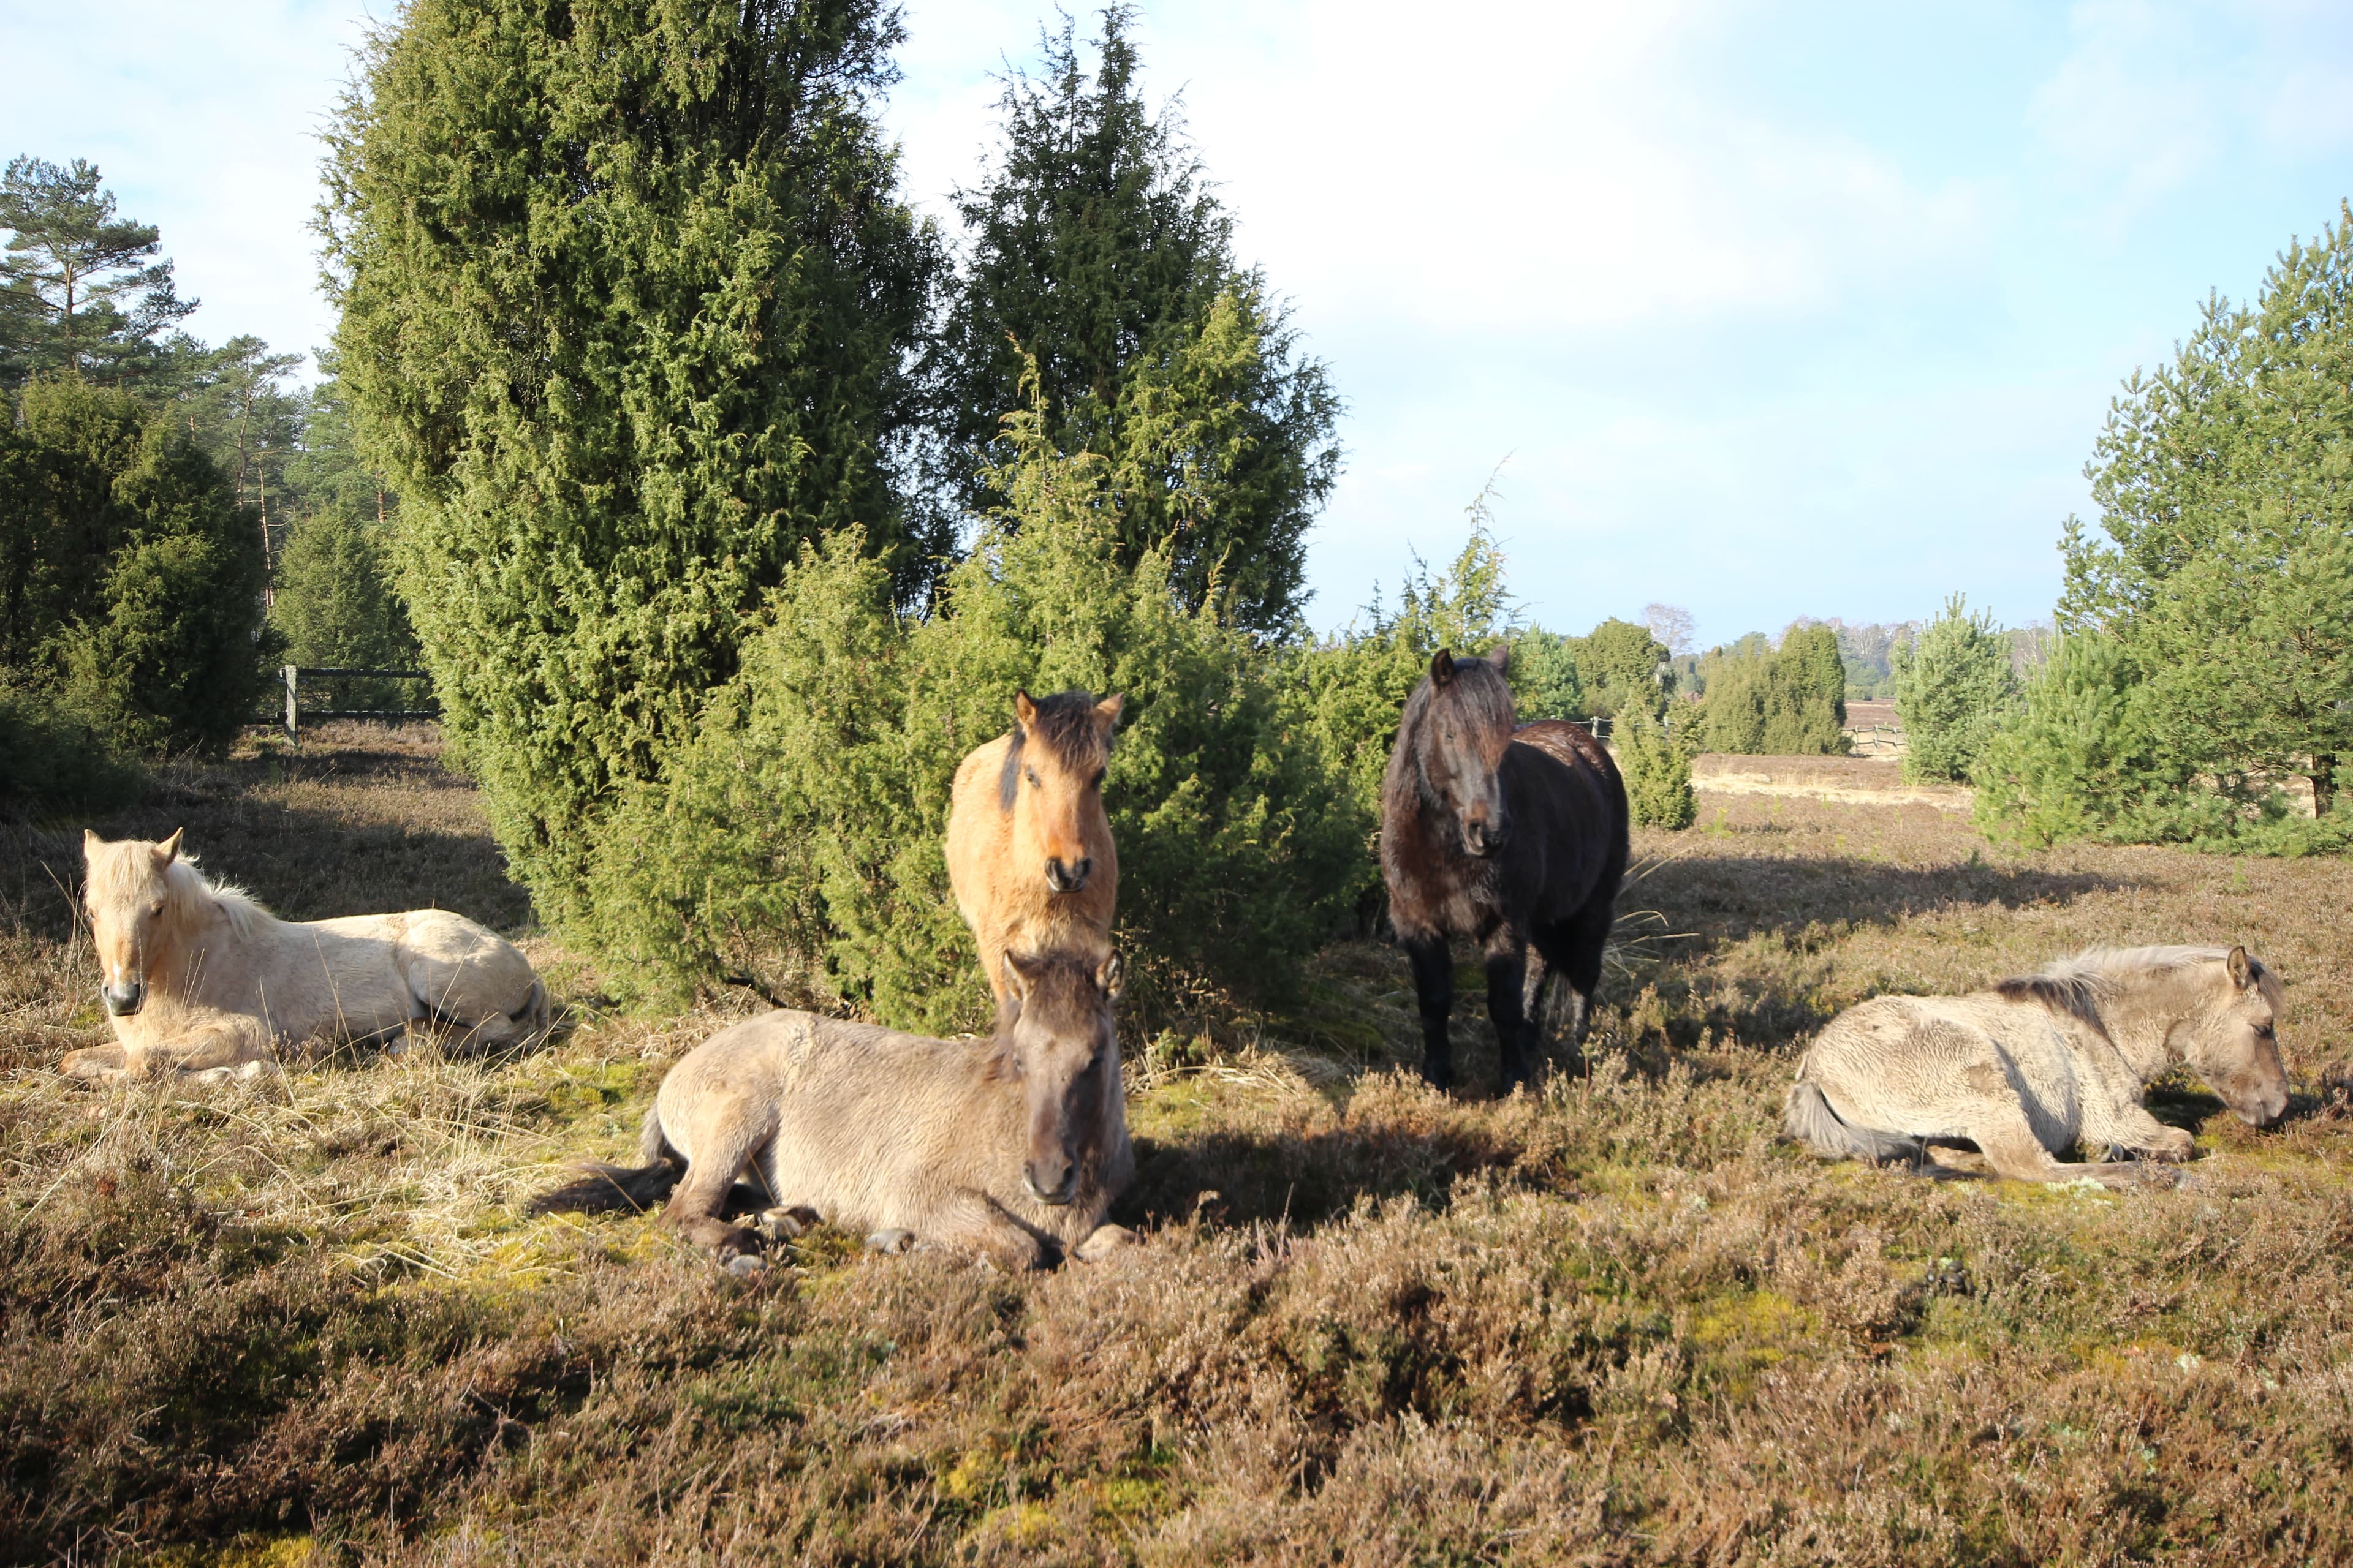
[[[2115,639],[2158,738],[2224,795],[2301,773],[2327,811],[2353,757],[2353,207],[2254,308],[2209,299],[2085,475],[2106,538],[2068,522],[2061,630]]]

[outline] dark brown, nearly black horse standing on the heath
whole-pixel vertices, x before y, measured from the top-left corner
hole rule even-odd
[[[1508,658],[1501,646],[1489,658],[1440,649],[1405,701],[1381,780],[1388,919],[1414,961],[1421,1077],[1440,1088],[1454,1081],[1447,938],[1466,936],[1487,954],[1487,1016],[1508,1093],[1529,1081],[1555,973],[1574,992],[1569,1037],[1584,1039],[1626,877],[1617,764],[1577,724],[1513,731]]]

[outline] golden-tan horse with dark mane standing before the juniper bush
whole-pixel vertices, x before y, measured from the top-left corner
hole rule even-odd
[[[1014,726],[955,769],[948,886],[1002,1009],[1007,952],[1111,952],[1120,851],[1104,816],[1118,696],[1014,693]]]

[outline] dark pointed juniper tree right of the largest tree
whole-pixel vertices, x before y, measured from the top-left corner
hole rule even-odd
[[[1167,545],[1188,604],[1219,585],[1242,625],[1275,628],[1339,473],[1339,400],[1264,275],[1233,259],[1174,106],[1146,106],[1129,21],[1125,5],[1101,14],[1092,75],[1075,24],[1045,38],[1042,71],[1005,87],[995,169],[955,197],[969,252],[932,357],[936,477],[967,510],[1002,512],[988,473],[1033,364],[1061,451],[1148,449],[1118,477],[1129,564]]]

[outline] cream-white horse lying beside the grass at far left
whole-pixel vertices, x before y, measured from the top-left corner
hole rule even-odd
[[[176,832],[162,844],[85,832],[82,863],[115,1044],[71,1051],[71,1077],[252,1077],[280,1046],[391,1039],[416,1023],[473,1048],[548,1027],[529,959],[464,914],[292,924],[205,882]]]

